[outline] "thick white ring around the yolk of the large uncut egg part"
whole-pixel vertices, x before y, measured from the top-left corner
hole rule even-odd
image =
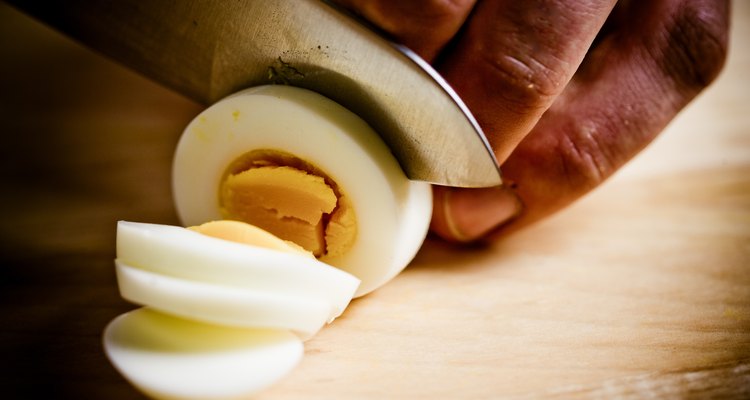
[[[175,153],[173,189],[186,225],[221,219],[227,166],[252,150],[290,153],[323,170],[351,199],[353,247],[324,261],[362,282],[363,295],[398,274],[416,254],[432,214],[430,185],[410,181],[367,123],[317,93],[290,86],[238,92],[185,129]]]

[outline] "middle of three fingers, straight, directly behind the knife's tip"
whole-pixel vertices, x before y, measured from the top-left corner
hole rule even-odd
[[[565,88],[616,0],[477,3],[437,69],[503,162]]]

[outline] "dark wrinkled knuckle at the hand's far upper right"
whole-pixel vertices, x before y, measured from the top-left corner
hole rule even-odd
[[[726,16],[721,7],[715,7],[720,2],[711,3],[686,2],[667,29],[662,67],[681,88],[705,88],[726,61]]]

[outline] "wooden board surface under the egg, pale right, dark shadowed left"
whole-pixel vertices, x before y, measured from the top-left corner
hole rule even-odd
[[[614,179],[483,249],[428,241],[263,399],[750,396],[750,3],[718,82]],[[177,223],[196,104],[0,4],[3,398],[139,398],[119,219]],[[8,396],[7,394],[10,394]]]

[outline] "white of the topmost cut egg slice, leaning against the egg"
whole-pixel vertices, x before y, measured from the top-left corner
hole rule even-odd
[[[232,229],[236,228],[234,224],[240,224],[219,223],[230,224]],[[253,229],[247,224],[240,225],[246,230]],[[273,239],[263,240],[273,242]],[[284,250],[283,241],[276,240],[271,244],[277,247],[268,248],[210,237],[178,226],[120,221],[117,260],[128,267],[228,290],[325,302],[329,306],[326,320],[339,316],[352,299],[359,280],[299,249]]]

